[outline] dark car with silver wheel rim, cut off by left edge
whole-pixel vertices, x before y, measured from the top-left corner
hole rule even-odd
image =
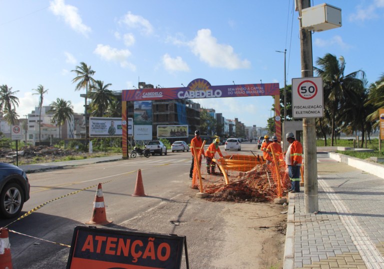
[[[29,188],[28,177],[21,168],[0,162],[0,215],[5,218],[17,216],[29,199]]]

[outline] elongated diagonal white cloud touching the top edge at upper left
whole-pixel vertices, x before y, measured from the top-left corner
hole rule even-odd
[[[68,24],[75,31],[88,36],[91,28],[82,23],[82,19],[77,12],[77,7],[65,4],[64,0],[53,0],[49,2],[49,9],[55,14],[64,19],[65,23]]]

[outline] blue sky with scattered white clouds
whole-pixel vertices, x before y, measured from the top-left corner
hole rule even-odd
[[[311,5],[323,1],[312,0]],[[343,56],[344,74],[384,73],[384,0],[328,0],[342,26],[312,34],[313,64]],[[38,106],[32,89],[48,89],[43,105],[71,101],[83,113],[85,89],[72,79],[80,62],[110,90],[138,81],[181,87],[195,78],[211,85],[276,83],[300,77],[298,12],[294,0],[0,0],[0,84],[17,91],[16,112]],[[225,118],[265,127],[271,96],[193,99]]]

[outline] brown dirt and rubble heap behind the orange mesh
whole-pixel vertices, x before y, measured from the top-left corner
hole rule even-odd
[[[204,192],[209,193],[211,201],[254,201],[266,202],[273,200],[277,195],[277,185],[271,176],[267,174],[269,167],[266,164],[256,165],[247,172],[239,172],[237,177],[231,178],[229,184],[220,182],[204,185]],[[281,177],[283,186],[287,186],[286,180]],[[286,192],[286,188],[283,188]]]

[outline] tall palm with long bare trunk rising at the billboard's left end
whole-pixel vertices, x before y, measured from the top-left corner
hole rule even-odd
[[[85,146],[87,145],[88,139],[88,127],[87,127],[87,98],[88,98],[88,88],[90,88],[94,79],[92,75],[95,73],[90,67],[90,65],[86,65],[85,62],[80,62],[80,65],[76,66],[76,69],[71,70],[71,72],[76,73],[76,77],[72,79],[72,83],[77,82],[74,90],[80,90],[81,88],[85,88],[85,105],[84,105],[84,117],[85,117]]]

